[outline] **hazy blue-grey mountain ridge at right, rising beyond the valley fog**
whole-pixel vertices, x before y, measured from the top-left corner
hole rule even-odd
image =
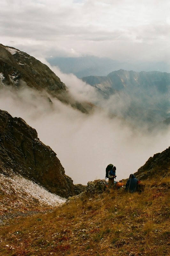
[[[150,123],[169,118],[169,73],[120,69],[107,76],[87,76],[81,79],[95,87],[105,99],[114,96],[113,102],[118,106],[122,102],[123,118],[130,117],[131,120],[139,119]],[[110,109],[112,111],[112,105]]]

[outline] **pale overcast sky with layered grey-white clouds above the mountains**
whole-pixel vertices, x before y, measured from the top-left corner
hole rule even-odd
[[[169,10],[169,0],[1,0],[0,43],[35,58],[169,63]]]

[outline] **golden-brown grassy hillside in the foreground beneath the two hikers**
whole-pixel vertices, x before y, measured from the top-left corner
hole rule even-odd
[[[170,177],[84,194],[45,214],[8,220],[0,229],[3,256],[170,255]]]

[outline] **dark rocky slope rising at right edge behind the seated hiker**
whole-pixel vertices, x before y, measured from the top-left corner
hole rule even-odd
[[[150,157],[146,163],[134,173],[139,180],[168,177],[170,174],[170,147]]]

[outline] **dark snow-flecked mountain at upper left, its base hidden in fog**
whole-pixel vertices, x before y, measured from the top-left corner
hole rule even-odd
[[[28,86],[39,91],[45,90],[63,103],[88,113],[47,65],[25,52],[2,44],[0,44],[0,83],[14,88]]]

